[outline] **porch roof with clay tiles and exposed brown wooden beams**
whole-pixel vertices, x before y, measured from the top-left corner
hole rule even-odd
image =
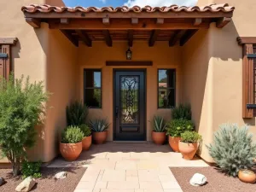
[[[218,28],[224,27],[230,22],[234,9],[227,3],[205,7],[124,6],[116,9],[32,4],[21,8],[31,26],[38,28],[41,22],[46,22],[50,29],[61,30],[75,46],[79,46],[79,41],[87,46],[92,46],[93,41],[105,41],[112,46],[113,41],[119,40],[127,41],[129,46],[133,40],[148,41],[148,46],[154,46],[155,41],[183,46],[195,32],[208,28],[212,22],[216,22]]]

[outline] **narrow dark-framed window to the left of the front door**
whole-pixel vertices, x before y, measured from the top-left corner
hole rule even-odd
[[[90,108],[102,108],[102,71],[84,69],[84,104]]]

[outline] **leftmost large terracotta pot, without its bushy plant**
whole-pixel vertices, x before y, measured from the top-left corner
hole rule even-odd
[[[82,152],[82,142],[80,143],[60,143],[60,151],[65,160],[73,161],[78,159]]]

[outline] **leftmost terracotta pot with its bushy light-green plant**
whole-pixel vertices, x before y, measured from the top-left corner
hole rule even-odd
[[[82,152],[84,133],[78,126],[68,126],[61,133],[60,151],[65,160],[72,161]]]

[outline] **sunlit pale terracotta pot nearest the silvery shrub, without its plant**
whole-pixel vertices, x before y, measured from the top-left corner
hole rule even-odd
[[[179,141],[178,148],[181,154],[183,154],[184,160],[192,160],[198,148],[198,143],[183,143]]]

